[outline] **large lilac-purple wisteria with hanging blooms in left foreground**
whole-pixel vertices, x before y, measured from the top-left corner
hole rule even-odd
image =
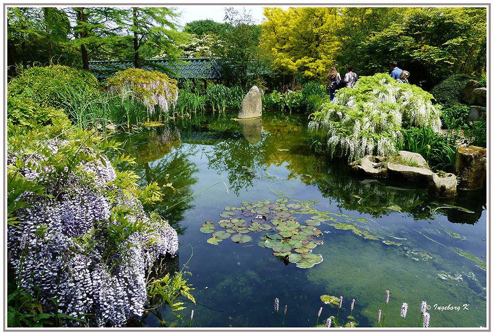
[[[8,154],[9,165],[24,163],[14,173],[40,183],[49,195],[26,191],[16,199],[27,206],[14,212],[18,222],[7,229],[9,266],[18,287],[38,297],[43,313],[84,320],[64,318],[63,326],[124,326],[129,317],[142,316],[146,271],[161,255],[177,252],[178,236],[111,183],[117,175],[106,157],[90,159],[96,154],[80,147],[74,152],[83,159],[76,166],[50,168],[73,145],[52,141],[38,154]],[[126,227],[115,238],[112,224],[123,224],[117,214],[144,228]]]

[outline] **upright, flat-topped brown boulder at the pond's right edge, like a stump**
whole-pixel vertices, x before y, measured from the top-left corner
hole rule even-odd
[[[454,171],[460,176],[458,187],[465,190],[476,190],[484,187],[487,173],[487,150],[469,146],[458,147]]]

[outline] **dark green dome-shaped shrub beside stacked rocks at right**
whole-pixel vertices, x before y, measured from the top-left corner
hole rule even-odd
[[[434,86],[431,90],[431,94],[434,96],[437,102],[446,106],[454,106],[461,104],[461,92],[469,80],[478,80],[478,78],[465,75],[456,74],[443,80],[441,83]]]

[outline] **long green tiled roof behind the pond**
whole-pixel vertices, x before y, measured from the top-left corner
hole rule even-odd
[[[216,60],[212,58],[179,58],[176,61],[168,59],[147,59],[142,69],[165,72],[172,78],[220,79],[221,74]],[[100,61],[89,62],[89,71],[97,78],[104,79],[115,76],[118,71],[134,68],[130,61]]]

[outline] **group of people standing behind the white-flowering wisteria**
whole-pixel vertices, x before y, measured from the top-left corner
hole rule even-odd
[[[404,71],[398,67],[398,63],[396,61],[392,61],[389,63],[389,67],[391,69],[391,78],[396,79],[398,82],[402,84],[410,84],[408,81],[408,77],[410,77],[410,72]],[[359,78],[355,72],[353,72],[353,66],[349,66],[347,68],[348,72],[345,74],[343,80],[341,80],[341,76],[339,72],[336,71],[336,68],[333,66],[329,70],[328,73],[328,82],[326,83],[326,90],[329,87],[329,99],[332,101],[334,98],[334,93],[336,90],[343,87],[353,87]]]

